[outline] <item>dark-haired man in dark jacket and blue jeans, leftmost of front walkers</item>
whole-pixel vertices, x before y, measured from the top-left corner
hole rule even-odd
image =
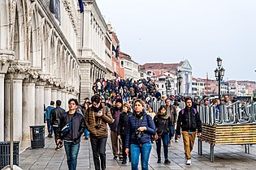
[[[85,131],[85,118],[82,114],[76,112],[78,101],[76,99],[68,100],[69,111],[60,118],[60,129],[57,135],[57,144],[63,140],[67,155],[67,166],[69,170],[76,170],[76,160],[80,148],[80,137]],[[67,133],[63,130],[67,125],[71,128]]]

